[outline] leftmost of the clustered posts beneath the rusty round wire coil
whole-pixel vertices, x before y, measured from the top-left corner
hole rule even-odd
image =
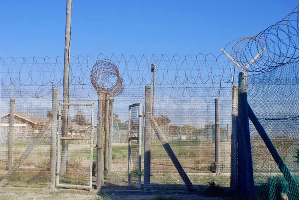
[[[98,127],[97,127],[97,190],[101,189],[102,183],[102,90],[98,89]]]

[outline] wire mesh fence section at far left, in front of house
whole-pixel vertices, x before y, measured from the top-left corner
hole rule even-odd
[[[52,98],[29,100],[16,97],[14,113],[10,113],[9,103],[9,98],[1,98],[1,184],[5,181],[4,176],[9,175],[8,170],[14,167],[16,172],[10,174],[9,181],[6,180],[8,186],[47,188],[50,184],[49,112]],[[10,114],[14,116],[10,122],[13,129],[9,126]],[[9,137],[12,140],[9,141]],[[12,160],[11,164],[8,164],[9,159]]]

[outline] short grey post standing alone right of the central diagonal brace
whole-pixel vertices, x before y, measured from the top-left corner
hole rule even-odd
[[[219,120],[219,99],[215,99],[215,173],[220,174],[220,159],[219,159],[219,146],[220,146],[220,120]]]

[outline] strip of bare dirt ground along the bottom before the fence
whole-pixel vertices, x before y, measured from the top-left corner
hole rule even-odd
[[[175,196],[177,200],[232,200],[187,192],[105,191],[105,195],[109,195],[111,200],[154,200],[156,195]],[[0,200],[93,200],[97,196],[97,190],[0,189]]]

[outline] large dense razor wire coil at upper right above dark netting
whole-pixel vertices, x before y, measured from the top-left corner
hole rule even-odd
[[[299,6],[281,21],[253,37],[236,39],[225,49],[245,67],[259,52],[261,56],[247,68],[250,72],[265,72],[299,59]],[[264,49],[264,51],[263,51]]]

